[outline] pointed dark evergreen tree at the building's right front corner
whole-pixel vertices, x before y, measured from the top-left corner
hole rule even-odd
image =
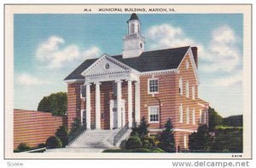
[[[160,143],[158,146],[166,152],[173,153],[175,152],[175,140],[172,132],[171,119],[167,119],[165,128],[166,130],[163,130],[160,134]]]

